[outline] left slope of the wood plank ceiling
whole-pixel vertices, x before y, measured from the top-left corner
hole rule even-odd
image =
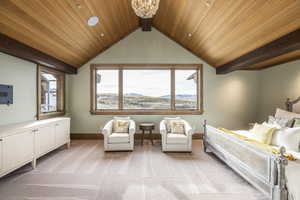
[[[100,23],[87,25],[91,16]],[[1,0],[0,32],[80,67],[138,27],[130,0]]]

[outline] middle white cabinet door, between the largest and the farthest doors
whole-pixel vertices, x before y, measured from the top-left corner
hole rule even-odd
[[[55,126],[49,124],[40,127],[36,131],[36,152],[37,156],[48,153],[55,147]]]

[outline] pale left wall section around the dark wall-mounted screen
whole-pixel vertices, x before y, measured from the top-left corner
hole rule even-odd
[[[14,90],[13,104],[0,105],[0,125],[35,120],[36,64],[0,52],[0,84]]]

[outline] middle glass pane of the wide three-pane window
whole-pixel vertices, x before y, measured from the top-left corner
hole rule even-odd
[[[123,70],[124,109],[171,109],[170,70]]]

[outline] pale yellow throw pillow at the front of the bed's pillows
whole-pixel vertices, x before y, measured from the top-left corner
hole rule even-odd
[[[253,134],[251,135],[251,138],[264,144],[270,144],[275,130],[277,129],[262,124],[255,124],[252,129]]]

